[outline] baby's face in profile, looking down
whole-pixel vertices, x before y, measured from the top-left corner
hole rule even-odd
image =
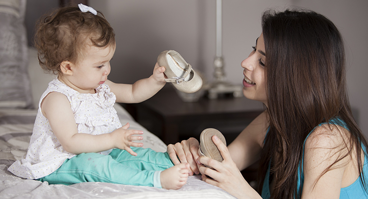
[[[83,59],[75,65],[73,76],[70,77],[70,82],[79,93],[94,93],[97,87],[105,83],[115,49],[115,45],[106,48],[88,46],[85,49]]]

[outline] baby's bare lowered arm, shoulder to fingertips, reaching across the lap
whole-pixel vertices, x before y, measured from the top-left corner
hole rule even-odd
[[[139,130],[127,130],[129,124],[116,129],[111,133],[91,135],[78,133],[74,113],[70,102],[65,95],[57,92],[48,94],[41,103],[43,115],[48,119],[51,129],[63,148],[73,154],[101,152],[112,148],[119,148],[136,155],[130,146],[141,147],[142,143],[132,142],[141,140]]]

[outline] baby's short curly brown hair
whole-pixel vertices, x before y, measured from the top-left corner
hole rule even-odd
[[[66,60],[80,61],[86,44],[101,48],[115,45],[114,29],[105,16],[97,12],[94,15],[69,6],[40,18],[34,42],[40,66],[45,72],[61,74],[60,64]]]

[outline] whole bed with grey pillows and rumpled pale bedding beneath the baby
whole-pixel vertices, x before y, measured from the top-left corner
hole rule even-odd
[[[39,67],[37,52],[27,46],[24,28],[25,0],[0,1],[0,199],[234,199],[200,176],[190,176],[179,190],[110,183],[80,183],[70,186],[14,176],[7,168],[28,148],[38,100],[54,77]],[[145,148],[166,151],[166,145],[115,104],[122,124],[143,130]]]

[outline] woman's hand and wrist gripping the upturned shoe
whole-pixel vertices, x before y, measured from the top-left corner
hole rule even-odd
[[[219,162],[217,160],[201,156],[199,158],[199,162],[203,165],[200,166],[199,171],[202,174],[202,180],[227,191],[238,199],[260,199],[261,197],[258,193],[245,181],[237,165],[231,158],[229,150],[225,144],[216,135],[212,137],[212,141],[220,150],[224,160]],[[208,165],[214,169],[210,169],[204,165]]]

